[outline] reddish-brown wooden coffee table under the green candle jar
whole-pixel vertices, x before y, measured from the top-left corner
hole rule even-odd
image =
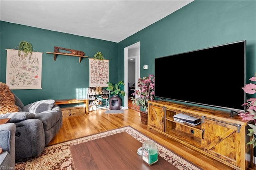
[[[142,143],[126,132],[70,146],[74,170],[178,170],[158,155],[158,162],[148,165],[137,154]]]

